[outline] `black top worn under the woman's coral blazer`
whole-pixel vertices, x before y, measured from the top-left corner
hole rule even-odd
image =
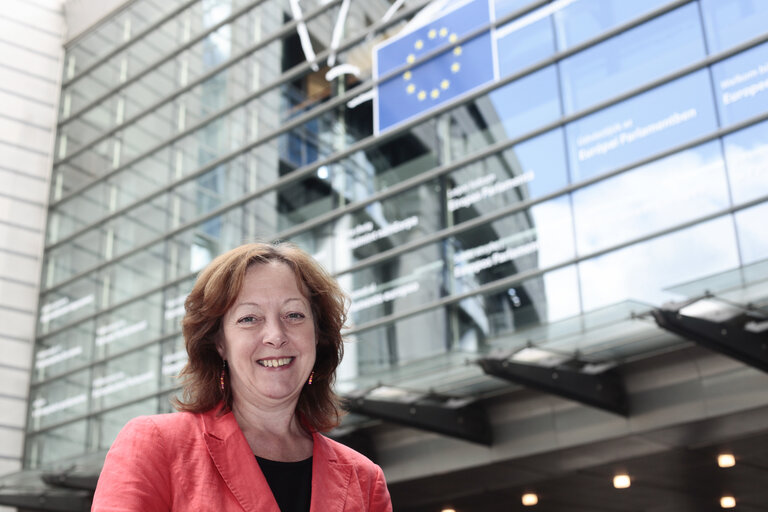
[[[309,512],[312,498],[312,457],[299,462],[277,462],[257,456],[280,512]]]

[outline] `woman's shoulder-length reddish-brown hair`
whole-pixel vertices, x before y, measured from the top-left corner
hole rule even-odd
[[[231,409],[230,386],[226,382],[222,392],[219,382],[223,361],[216,337],[221,319],[240,293],[248,268],[275,261],[293,269],[299,289],[312,306],[318,342],[315,374],[312,385],[304,386],[296,410],[306,427],[325,432],[338,426],[343,414],[333,382],[344,351],[341,328],[346,321],[346,295],[310,255],[287,242],[242,245],[217,257],[200,273],[184,303],[182,333],[189,360],[179,375],[182,398],[174,405],[180,411],[205,412],[223,402]]]

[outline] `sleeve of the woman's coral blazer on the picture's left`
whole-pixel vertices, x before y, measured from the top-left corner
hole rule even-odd
[[[171,510],[169,466],[162,433],[152,418],[131,420],[107,453],[91,511]]]

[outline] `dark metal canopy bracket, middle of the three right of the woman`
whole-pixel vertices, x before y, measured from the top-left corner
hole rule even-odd
[[[507,358],[481,358],[477,362],[488,375],[622,416],[629,414],[624,384],[612,370],[591,374],[562,366],[518,363]]]

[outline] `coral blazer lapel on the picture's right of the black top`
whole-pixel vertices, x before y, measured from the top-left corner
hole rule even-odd
[[[310,512],[342,512],[344,510],[362,510],[359,505],[347,503],[355,494],[350,489],[354,468],[351,464],[340,464],[333,448],[326,439],[313,434],[312,450],[312,501]],[[358,493],[359,494],[359,493]],[[361,498],[361,497],[360,497]],[[351,501],[357,503],[358,499]],[[351,508],[349,508],[349,506]],[[361,505],[361,504],[360,504]]]

